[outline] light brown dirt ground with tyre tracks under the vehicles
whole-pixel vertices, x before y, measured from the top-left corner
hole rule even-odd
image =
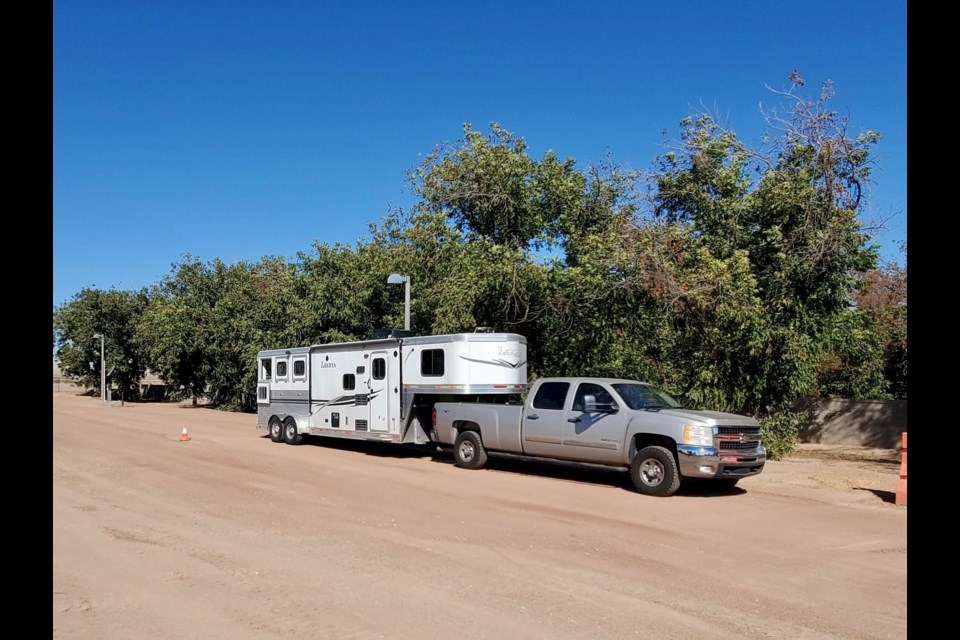
[[[650,498],[617,471],[54,394],[53,637],[901,640],[898,474],[895,451],[803,447]]]

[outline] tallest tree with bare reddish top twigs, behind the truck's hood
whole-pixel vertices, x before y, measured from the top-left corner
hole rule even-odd
[[[798,74],[790,81],[777,92],[786,114],[765,112],[777,133],[765,149],[748,148],[709,115],[684,120],[679,146],[657,160],[651,199],[656,218],[690,224],[715,258],[746,258],[766,326],[734,355],[746,377],[728,381],[756,389],[748,406],[766,411],[815,391],[838,316],[877,257],[861,218],[879,136],[848,134],[829,107],[830,83],[811,100]]]

